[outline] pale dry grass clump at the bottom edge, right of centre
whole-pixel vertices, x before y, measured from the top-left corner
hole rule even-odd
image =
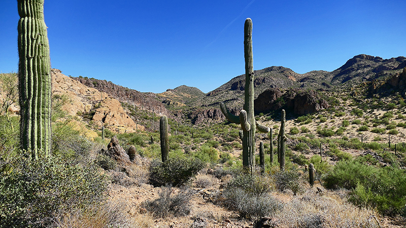
[[[336,195],[309,190],[285,203],[274,221],[278,227],[379,227],[375,211],[359,209]]]

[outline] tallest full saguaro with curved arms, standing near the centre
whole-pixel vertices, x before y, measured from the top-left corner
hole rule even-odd
[[[243,166],[250,171],[255,165],[255,130],[256,122],[254,116],[254,67],[252,58],[252,20],[247,18],[244,25],[244,57],[245,57],[245,93],[244,108],[240,116],[232,115],[224,103],[220,108],[224,116],[232,123],[241,124],[243,129]],[[258,130],[264,133],[269,128],[258,126]]]

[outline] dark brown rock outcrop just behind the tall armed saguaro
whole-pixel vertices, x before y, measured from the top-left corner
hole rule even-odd
[[[295,115],[306,115],[328,107],[327,101],[313,91],[289,89],[284,93],[278,89],[268,89],[254,100],[256,111],[273,111],[280,108],[293,109]]]

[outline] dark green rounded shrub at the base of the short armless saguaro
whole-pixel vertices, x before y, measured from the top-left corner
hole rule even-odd
[[[199,159],[171,158],[162,163],[159,160],[151,162],[149,180],[154,186],[185,184],[204,167]]]

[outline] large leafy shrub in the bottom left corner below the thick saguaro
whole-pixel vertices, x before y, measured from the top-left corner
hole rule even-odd
[[[0,220],[4,227],[47,227],[54,216],[103,199],[107,179],[92,164],[21,152],[2,168]]]

